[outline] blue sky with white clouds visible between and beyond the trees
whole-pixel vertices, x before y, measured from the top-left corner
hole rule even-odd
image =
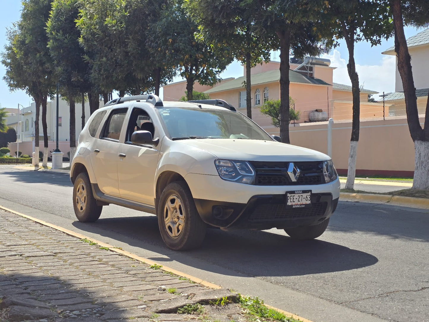
[[[0,49],[3,52],[6,44],[6,28],[12,27],[13,22],[18,21],[21,13],[21,1],[6,1],[2,5],[2,19],[0,20]],[[405,27],[405,36],[408,38],[421,30],[412,27]],[[394,45],[393,38],[384,40],[381,45],[373,46],[366,42],[356,43],[355,61],[356,70],[359,74],[360,85],[364,88],[382,93],[385,91],[395,91],[395,56],[382,55],[381,52]],[[272,60],[279,61],[279,53],[272,53]],[[340,46],[333,49],[329,54],[322,56],[331,60],[331,67],[337,67],[334,70],[334,82],[351,85],[347,73],[348,52],[344,41],[340,41]],[[237,61],[230,64],[222,74],[222,78],[243,76],[243,67]],[[23,106],[29,106],[32,102],[24,91],[10,92],[8,86],[3,81],[5,68],[0,64],[0,105],[1,107],[14,107],[18,103]],[[175,82],[181,81],[180,77],[174,79]],[[114,95],[115,96],[115,95]],[[163,97],[162,89],[160,97]],[[378,99],[377,95],[375,98]]]

